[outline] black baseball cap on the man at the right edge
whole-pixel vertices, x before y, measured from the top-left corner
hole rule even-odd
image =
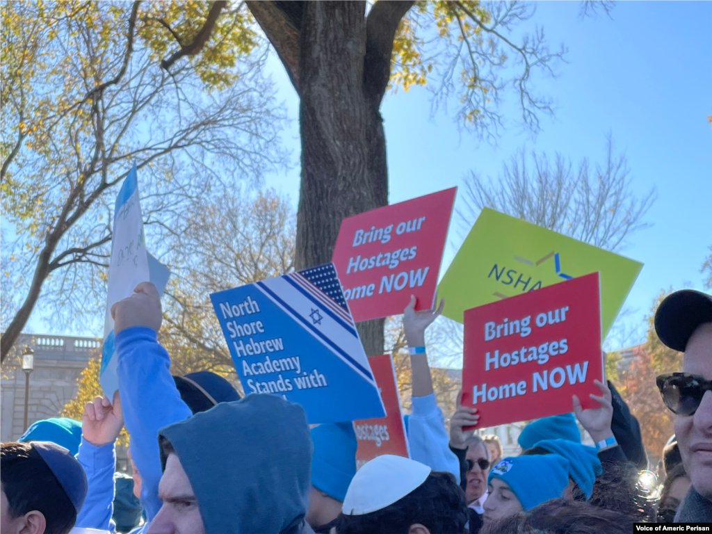
[[[656,334],[665,345],[680,352],[703,323],[712,323],[712,296],[692,289],[670,293],[655,312]]]

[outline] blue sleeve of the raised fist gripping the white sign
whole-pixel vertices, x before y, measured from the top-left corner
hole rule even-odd
[[[116,335],[117,374],[131,457],[141,476],[141,503],[148,520],[162,506],[158,498],[161,459],[158,431],[191,416],[168,368],[168,352],[151,328],[134,326]]]

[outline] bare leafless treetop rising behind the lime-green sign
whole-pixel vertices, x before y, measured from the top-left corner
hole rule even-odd
[[[530,168],[532,167],[532,168]],[[651,189],[638,197],[631,189],[624,155],[615,155],[607,138],[603,164],[592,170],[583,159],[575,171],[571,162],[555,155],[518,152],[496,180],[472,173],[465,181],[466,211],[458,211],[469,229],[487,206],[503,213],[572,236],[585,243],[619,251],[632,234],[649,227],[644,216],[655,201]]]

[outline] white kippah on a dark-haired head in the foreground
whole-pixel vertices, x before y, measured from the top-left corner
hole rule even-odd
[[[419,487],[430,471],[428,466],[403,456],[377,456],[356,472],[341,511],[344,515],[363,515],[381,510]]]

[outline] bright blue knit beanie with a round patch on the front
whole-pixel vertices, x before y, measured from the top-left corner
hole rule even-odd
[[[569,462],[558,454],[513,456],[491,468],[487,483],[501,478],[525,511],[558,498],[569,483]]]

